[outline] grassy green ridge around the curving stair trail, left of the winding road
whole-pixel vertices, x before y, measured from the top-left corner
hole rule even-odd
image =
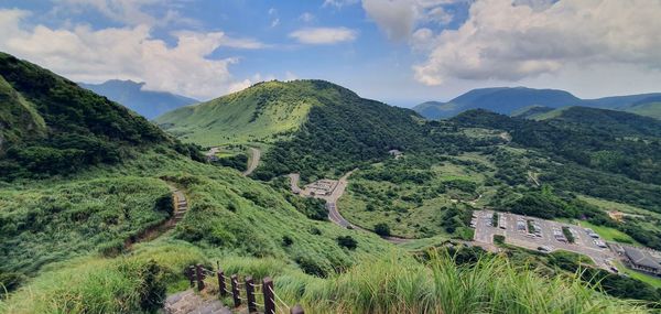
[[[163,180],[174,182],[186,192],[191,208],[184,220],[153,243],[137,245],[136,251],[127,256],[128,261],[127,257],[108,259],[97,255],[96,249],[113,239],[110,235],[115,235],[115,239],[122,239],[134,228],[163,218],[152,209],[154,197],[167,191]],[[110,193],[112,185],[117,190]],[[82,193],[83,191],[88,193]],[[13,197],[19,194],[35,198]],[[52,194],[57,194],[54,196],[56,202],[50,201],[52,196],[47,195]],[[127,273],[123,267],[126,263],[144,267],[153,257],[152,253],[140,255],[141,248],[145,246],[158,251],[170,251],[175,257],[181,256],[187,263],[195,258],[186,258],[186,251],[193,250],[197,252],[197,257],[214,259],[274,259],[289,264],[299,274],[299,266],[302,266],[307,272],[323,275],[349,268],[362,258],[394,249],[376,236],[307,219],[278,192],[246,178],[236,171],[195,163],[170,151],[143,154],[121,165],[100,165],[80,172],[65,182],[50,180],[6,184],[2,196],[2,202],[12,202],[12,206],[2,206],[0,217],[11,218],[12,221],[29,221],[34,218],[40,221],[40,225],[34,225],[39,229],[23,230],[18,238],[7,239],[2,243],[3,249],[10,253],[2,255],[3,268],[25,271],[29,277],[36,275],[28,281],[23,290],[9,299],[3,305],[7,306],[4,313],[51,313],[62,310],[62,306],[65,306],[65,312],[72,313],[78,313],[82,308],[105,310],[91,313],[118,311],[120,307],[116,306],[122,303],[120,300],[133,300],[130,289],[132,284],[138,284],[136,281],[141,280],[140,271]],[[13,210],[7,212],[10,208]],[[62,210],[51,210],[52,208]],[[126,221],[119,218],[117,228],[108,228],[107,219],[117,219],[117,216],[121,216],[122,208],[134,215],[129,215],[131,218]],[[90,215],[90,212],[95,214]],[[77,215],[89,216],[89,219],[79,225],[72,225],[75,221],[63,224]],[[25,228],[25,225],[17,225]],[[98,230],[104,232],[96,236],[90,234]],[[358,242],[355,251],[344,249],[336,242],[338,236],[347,235]],[[293,240],[291,246],[283,246],[284,236]],[[62,239],[71,241],[58,241]],[[17,247],[10,247],[12,245]],[[25,264],[25,259],[20,257],[26,255],[43,257],[28,259],[34,264]],[[132,256],[136,255],[137,260],[133,260]],[[86,258],[72,261],[71,258],[76,256]],[[167,270],[167,283],[174,290],[177,290],[176,286],[181,289],[184,262],[163,258],[160,267]],[[46,264],[47,262],[51,264]],[[41,272],[35,270],[37,266],[42,267]],[[76,273],[79,275],[73,278]],[[89,284],[94,278],[106,278],[107,284],[82,286]],[[117,291],[108,290],[115,289],[112,286],[117,286]],[[93,289],[97,291],[91,291]],[[80,295],[95,297],[80,301]],[[102,306],[109,307],[95,307],[101,306],[101,303],[107,303]],[[130,308],[136,311],[134,306]],[[2,306],[0,313],[3,313]]]

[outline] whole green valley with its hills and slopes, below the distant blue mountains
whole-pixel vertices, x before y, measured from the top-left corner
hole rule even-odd
[[[175,109],[160,129],[12,56],[0,75],[11,127],[0,313],[153,313],[167,295],[193,295],[193,264],[272,277],[311,313],[442,313],[451,291],[481,291],[457,313],[552,312],[554,297],[570,312],[649,313],[661,300],[658,278],[614,273],[626,260],[610,249],[549,237],[579,224],[609,246],[661,248],[653,119],[576,107],[541,120],[479,109],[426,120],[293,80]],[[485,213],[549,228],[532,242],[487,226]],[[372,289],[387,300],[361,303]]]

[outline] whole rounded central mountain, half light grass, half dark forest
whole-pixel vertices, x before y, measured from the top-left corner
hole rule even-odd
[[[208,102],[165,113],[156,122],[203,145],[272,145],[259,177],[347,171],[424,140],[422,117],[410,109],[360,98],[324,80],[267,82]],[[333,165],[333,166],[330,166]]]

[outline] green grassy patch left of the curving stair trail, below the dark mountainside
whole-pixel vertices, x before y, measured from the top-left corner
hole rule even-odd
[[[33,273],[97,250],[120,251],[127,239],[167,219],[169,196],[165,182],[137,176],[2,188],[0,271]]]

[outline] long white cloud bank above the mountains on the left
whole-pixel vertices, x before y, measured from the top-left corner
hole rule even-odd
[[[0,10],[0,50],[29,59],[77,82],[121,78],[145,82],[147,89],[167,90],[201,99],[227,91],[229,66],[238,58],[209,58],[220,47],[260,48],[223,32],[173,32],[174,46],[151,35],[147,25],[93,30],[21,26],[29,12]]]

